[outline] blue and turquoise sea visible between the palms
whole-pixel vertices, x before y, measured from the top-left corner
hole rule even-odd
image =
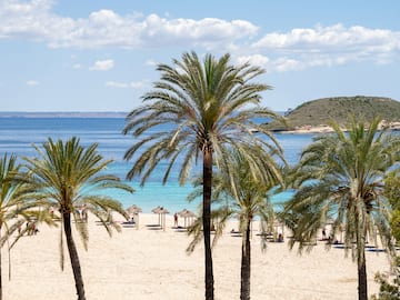
[[[198,211],[201,199],[188,202],[187,197],[193,191],[193,186],[191,181],[183,187],[179,186],[178,168],[172,170],[171,178],[166,184],[162,184],[162,177],[167,163],[161,163],[143,187],[140,186],[140,178],[127,180],[127,173],[133,161],[126,161],[123,156],[137,140],[132,136],[122,134],[124,116],[124,113],[0,113],[0,157],[3,157],[4,152],[13,153],[19,158],[33,157],[37,154],[33,144],[41,147],[48,138],[67,140],[78,137],[84,147],[98,143],[98,151],[103,158],[113,160],[106,171],[118,176],[134,188],[136,192],[132,194],[119,190],[108,191],[108,194],[119,200],[124,208],[137,204],[146,213],[150,213],[158,206],[164,207],[170,213],[183,208]],[[168,128],[161,127],[159,130],[168,130]],[[312,133],[276,133],[274,136],[289,164],[298,161],[301,150],[314,137]],[[179,167],[179,162],[177,166]],[[198,174],[200,170],[201,166],[194,167],[192,176]],[[273,194],[272,201],[280,206],[291,196],[292,191]]]

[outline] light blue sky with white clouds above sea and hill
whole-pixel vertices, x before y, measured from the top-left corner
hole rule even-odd
[[[250,62],[261,104],[400,100],[398,0],[0,0],[0,111],[130,111],[184,52]]]

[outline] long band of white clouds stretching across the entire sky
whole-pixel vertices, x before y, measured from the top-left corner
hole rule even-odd
[[[68,18],[52,11],[50,0],[0,1],[0,39],[23,39],[50,48],[152,49],[203,48],[231,52],[238,62],[250,61],[270,72],[399,59],[400,31],[362,26],[293,28],[288,32],[262,32],[248,20],[216,18],[170,19],[158,14],[120,16],[112,10]],[[113,61],[98,61],[92,70],[109,70]]]

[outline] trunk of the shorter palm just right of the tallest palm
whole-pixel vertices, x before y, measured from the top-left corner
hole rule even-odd
[[[242,243],[240,300],[250,300],[250,226],[251,221],[248,220]]]

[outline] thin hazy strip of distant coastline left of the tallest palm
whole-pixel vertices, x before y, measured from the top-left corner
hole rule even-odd
[[[0,111],[0,118],[126,118],[124,111]]]

